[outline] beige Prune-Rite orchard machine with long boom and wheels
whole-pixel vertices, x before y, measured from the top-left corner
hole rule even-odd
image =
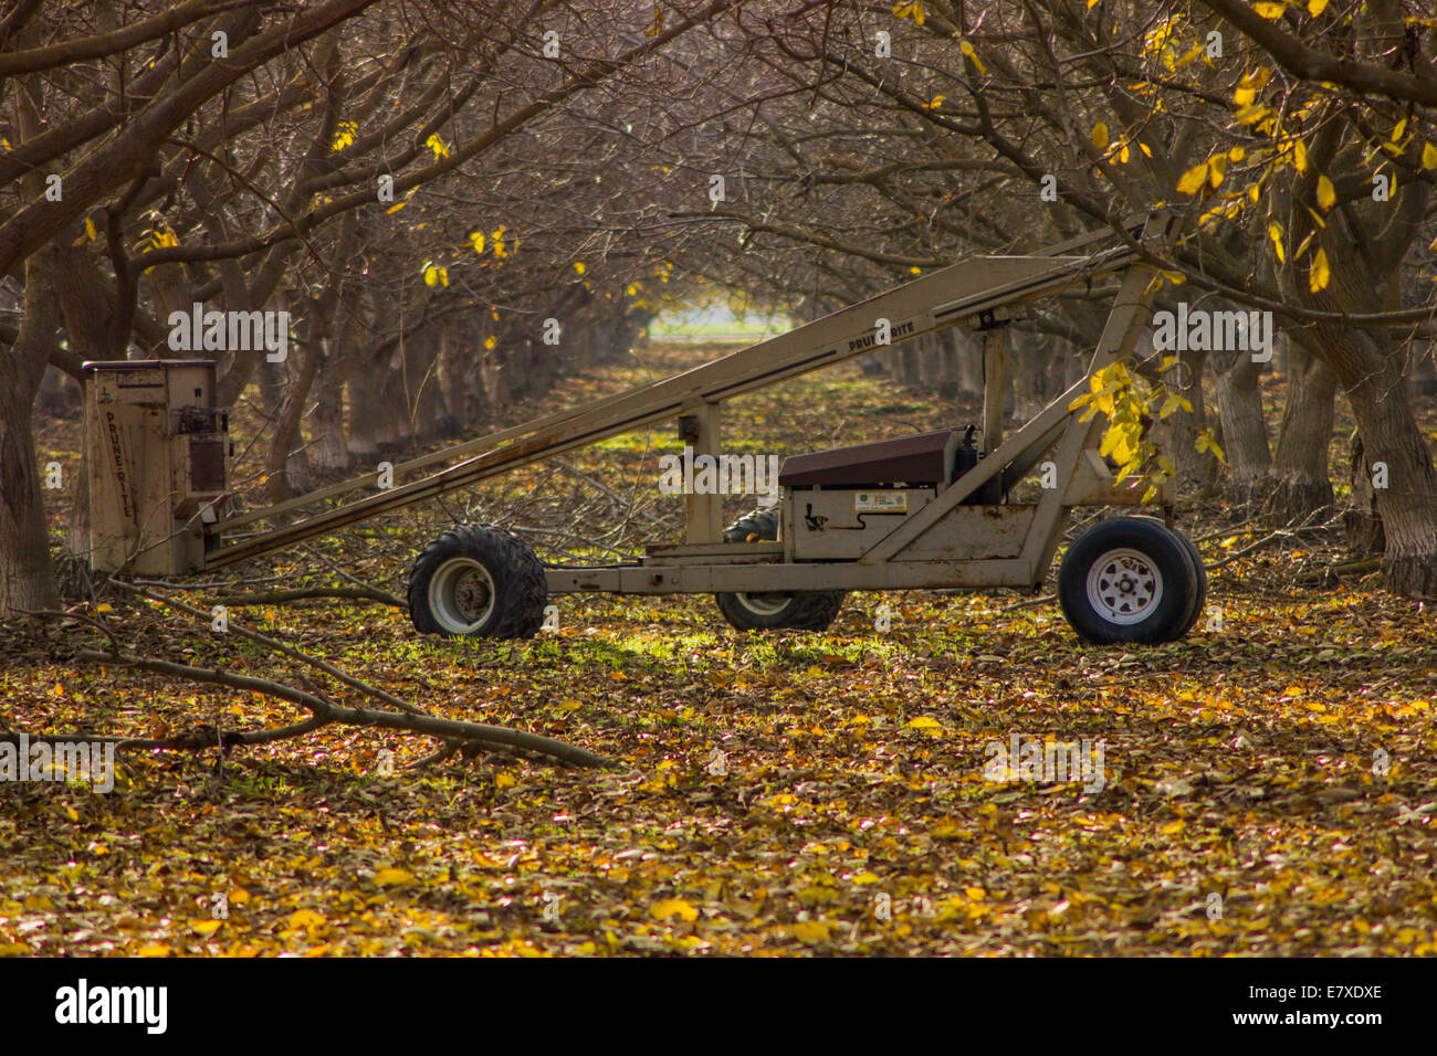
[[[228,417],[216,405],[214,363],[88,363],[91,563],[167,576],[224,568],[667,420],[677,420],[694,457],[717,458],[723,401],[864,355],[885,338],[967,325],[984,338],[981,431],[790,457],[779,504],[729,529],[723,496],[690,494],[685,542],[651,546],[631,563],[545,565],[506,530],[457,526],[414,562],[411,616],[421,632],[517,638],[539,631],[549,595],[714,593],[740,629],[822,629],[848,590],[1038,589],[1069,510],[1141,501],[1141,486],[1118,483],[1099,455],[1104,418],[1081,421],[1071,407],[1096,371],[1131,355],[1152,295],[1140,246],[1164,249],[1173,231],[1174,218],[1157,211],[1121,233],[973,257],[664,381],[398,464],[394,481],[402,483],[384,490],[369,473],[244,511],[227,509]],[[1092,296],[1104,276],[1118,289],[1088,376],[1003,435],[1007,323],[1042,297],[1075,287]],[[1036,501],[1009,501],[1035,471]],[[1171,527],[1168,487],[1163,520],[1102,520],[1069,546],[1059,601],[1082,638],[1165,642],[1194,624],[1207,580],[1197,549]],[[361,490],[371,493],[336,501]]]

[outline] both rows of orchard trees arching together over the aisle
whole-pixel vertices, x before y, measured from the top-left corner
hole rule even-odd
[[[1433,593],[1437,476],[1408,398],[1437,234],[1424,7],[155,0],[121,24],[10,3],[0,599],[53,599],[30,440],[46,365],[174,355],[167,319],[194,303],[293,320],[283,363],[193,352],[218,355],[226,402],[259,401],[250,468],[280,499],[483,425],[690,283],[813,318],[1160,204],[1184,237],[1158,307],[1270,310],[1283,336],[1270,363],[1178,353],[1177,471],[1217,473],[1194,441],[1219,434],[1236,497],[1318,516],[1341,395],[1385,570]],[[1109,293],[1019,323],[1020,402],[1078,375]],[[895,362],[973,389],[966,348]],[[1387,487],[1364,490],[1378,464]]]

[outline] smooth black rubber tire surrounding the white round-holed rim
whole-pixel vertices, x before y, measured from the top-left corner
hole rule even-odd
[[[1177,641],[1196,619],[1200,601],[1198,562],[1193,560],[1188,546],[1178,533],[1151,517],[1115,517],[1094,524],[1068,547],[1058,570],[1058,602],[1063,616],[1082,639],[1095,645]],[[1114,550],[1140,555],[1157,572],[1161,585],[1161,596],[1151,611],[1131,624],[1109,619],[1088,596],[1089,573]]]

